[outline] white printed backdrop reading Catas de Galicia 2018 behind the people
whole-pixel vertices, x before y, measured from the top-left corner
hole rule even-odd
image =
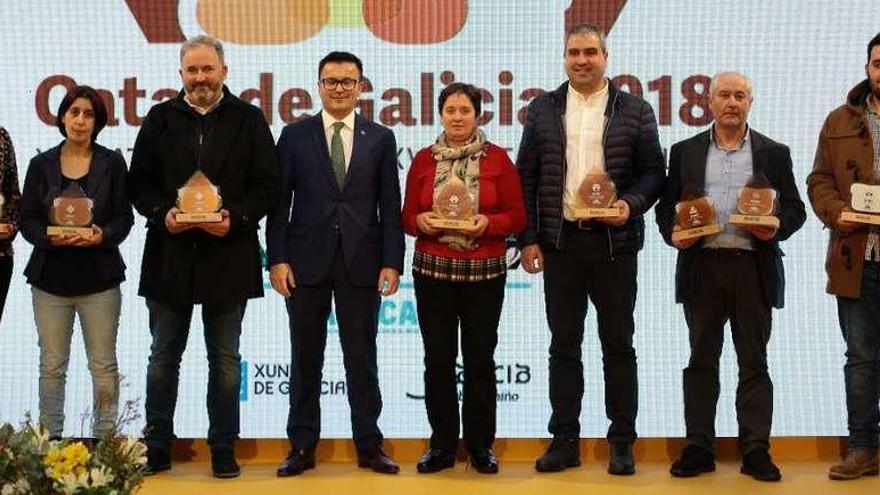
[[[54,112],[65,88],[75,83],[101,88],[112,102],[99,141],[130,161],[148,108],[180,88],[180,42],[200,33],[225,42],[229,88],[263,110],[276,137],[286,123],[320,109],[320,58],[349,50],[363,59],[368,79],[360,112],[397,136],[401,181],[415,152],[440,131],[436,98],[453,80],[484,88],[481,123],[489,138],[514,156],[525,106],[565,80],[565,26],[589,21],[609,30],[608,75],[654,107],[664,148],[711,122],[703,96],[712,74],[739,70],[751,76],[751,125],[791,147],[805,195],[822,120],[864,77],[865,46],[880,26],[880,11],[871,0],[8,0],[0,2],[0,19],[0,125],[12,136],[22,180],[30,158],[60,141]],[[673,299],[675,252],[660,240],[653,213],[647,220],[635,315],[638,430],[642,436],[680,436],[687,330]],[[122,399],[141,403],[150,345],[146,307],[136,294],[144,233],[138,219],[123,245],[128,281],[122,285],[118,342]],[[824,293],[826,240],[810,214],[783,246],[787,305],[774,312],[769,346],[777,435],[845,432],[843,343],[834,300]],[[3,421],[38,409],[37,338],[30,290],[21,275],[30,246],[19,238],[15,249],[15,275],[0,325]],[[518,253],[509,254],[516,266]],[[429,431],[408,271],[400,292],[384,300],[379,318],[381,424],[389,437],[424,437]],[[512,270],[496,352],[499,436],[547,435],[549,332],[542,292],[540,277]],[[193,320],[181,366],[176,416],[181,437],[207,431],[207,364],[198,312]],[[607,421],[595,328],[591,308],[581,421],[584,436],[598,437]],[[329,329],[323,435],[347,437],[346,384],[332,318]],[[65,434],[83,435],[91,385],[78,325],[74,343]],[[724,436],[736,435],[732,351],[728,338],[717,422]],[[283,437],[291,369],[280,296],[267,292],[248,305],[241,353],[242,436]],[[142,420],[128,428],[141,426]]]

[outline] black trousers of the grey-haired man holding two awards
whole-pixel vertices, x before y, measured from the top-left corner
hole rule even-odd
[[[714,451],[718,360],[730,321],[739,365],[736,417],[742,453],[769,448],[773,383],[767,372],[771,309],[753,252],[703,249],[697,257],[697,291],[684,303],[691,357],[684,369],[687,441]]]

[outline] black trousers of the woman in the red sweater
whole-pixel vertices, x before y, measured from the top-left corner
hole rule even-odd
[[[506,277],[450,282],[414,274],[419,327],[425,346],[425,407],[431,447],[454,450],[459,415],[455,358],[461,325],[464,363],[461,414],[469,451],[495,441],[495,346]]]

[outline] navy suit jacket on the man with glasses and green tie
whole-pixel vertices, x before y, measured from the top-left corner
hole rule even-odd
[[[297,285],[330,272],[341,245],[352,285],[375,286],[382,268],[403,269],[397,142],[391,130],[355,117],[340,188],[330,167],[321,114],[284,128],[278,140],[282,199],[269,216],[269,263],[290,263]]]

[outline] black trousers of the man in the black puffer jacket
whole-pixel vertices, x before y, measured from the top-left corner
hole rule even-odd
[[[581,345],[588,301],[596,308],[608,440],[633,442],[638,410],[633,309],[636,254],[610,252],[604,227],[584,231],[565,223],[565,247],[544,247],[544,303],[550,326],[549,430],[555,438],[580,436],[584,368]]]

